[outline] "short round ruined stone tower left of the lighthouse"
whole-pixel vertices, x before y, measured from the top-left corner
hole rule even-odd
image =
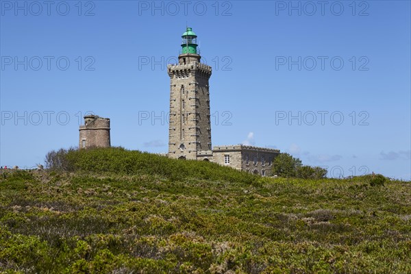
[[[97,115],[84,116],[84,125],[79,128],[79,149],[110,147],[110,119]]]

